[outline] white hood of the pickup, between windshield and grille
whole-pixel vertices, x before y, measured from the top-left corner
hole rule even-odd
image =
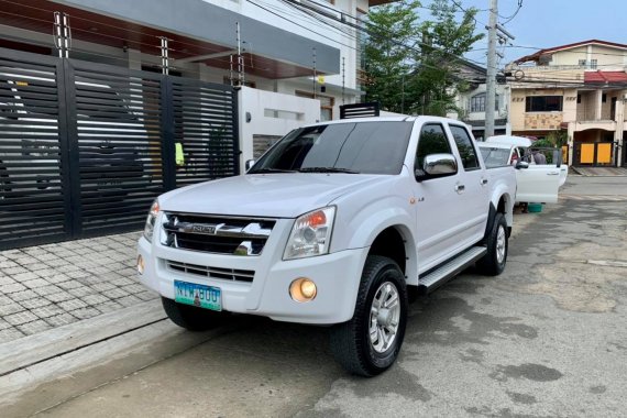
[[[366,184],[393,176],[363,174],[249,174],[200,183],[160,197],[174,212],[296,218]]]

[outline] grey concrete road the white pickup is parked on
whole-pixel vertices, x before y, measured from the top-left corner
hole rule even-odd
[[[627,195],[623,182],[571,177],[565,191]],[[143,353],[42,386],[6,413],[625,416],[627,205],[568,199],[517,221],[526,226],[510,241],[506,272],[486,278],[469,271],[414,302],[400,359],[380,377],[339,369],[324,329],[243,318],[183,352],[180,334],[160,339]],[[103,375],[108,383],[92,388]],[[66,400],[50,408],[51,393]]]

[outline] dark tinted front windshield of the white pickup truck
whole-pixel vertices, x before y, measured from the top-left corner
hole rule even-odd
[[[249,174],[399,174],[413,125],[377,121],[300,128],[264,154]]]

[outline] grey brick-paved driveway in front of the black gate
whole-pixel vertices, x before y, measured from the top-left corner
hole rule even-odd
[[[156,298],[135,278],[140,233],[0,251],[0,343]]]

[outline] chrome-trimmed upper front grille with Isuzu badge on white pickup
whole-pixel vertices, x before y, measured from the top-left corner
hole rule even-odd
[[[165,213],[162,244],[206,253],[260,255],[275,220]]]

